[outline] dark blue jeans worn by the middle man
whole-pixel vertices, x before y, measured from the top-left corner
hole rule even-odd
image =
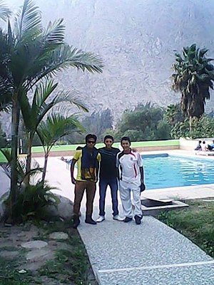
[[[100,187],[100,216],[105,216],[105,199],[106,199],[106,189],[107,186],[110,186],[111,189],[111,201],[112,201],[112,209],[113,216],[118,214],[118,180],[117,178],[100,178],[99,187]]]

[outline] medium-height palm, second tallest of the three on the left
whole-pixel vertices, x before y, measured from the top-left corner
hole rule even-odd
[[[36,130],[44,120],[44,117],[53,108],[56,108],[61,103],[69,103],[63,108],[63,113],[66,112],[66,108],[71,108],[71,105],[76,105],[79,109],[88,112],[87,108],[80,100],[78,100],[78,93],[75,90],[71,91],[59,91],[55,93],[54,98],[50,100],[50,96],[56,90],[58,83],[54,83],[53,80],[41,82],[36,86],[32,103],[29,103],[28,98],[23,96],[20,100],[21,114],[24,120],[24,126],[26,129],[26,141],[27,141],[27,160],[26,160],[26,172],[30,173],[31,170],[31,147]],[[29,175],[26,176],[25,182],[29,184]]]

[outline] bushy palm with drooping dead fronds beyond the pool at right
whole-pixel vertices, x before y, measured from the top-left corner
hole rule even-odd
[[[210,99],[213,89],[214,66],[206,58],[208,49],[192,46],[183,48],[183,53],[175,53],[173,64],[173,89],[181,92],[180,107],[188,118],[199,118],[204,113],[205,101]]]

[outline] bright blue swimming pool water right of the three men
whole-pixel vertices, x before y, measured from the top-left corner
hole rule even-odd
[[[168,154],[142,155],[146,189],[214,184],[214,161]]]

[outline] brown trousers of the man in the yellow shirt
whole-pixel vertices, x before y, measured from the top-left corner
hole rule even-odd
[[[93,199],[96,192],[96,183],[92,181],[76,181],[74,188],[73,214],[78,216],[83,194],[86,190],[86,216],[93,212]]]

